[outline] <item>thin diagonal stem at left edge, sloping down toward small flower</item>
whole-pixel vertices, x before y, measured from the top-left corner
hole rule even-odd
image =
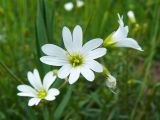
[[[18,77],[2,62],[0,61],[0,65],[9,73],[9,75],[16,81],[23,83]]]

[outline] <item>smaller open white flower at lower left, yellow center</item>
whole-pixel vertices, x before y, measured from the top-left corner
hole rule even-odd
[[[27,74],[28,81],[32,86],[29,85],[18,85],[17,89],[20,91],[18,96],[26,96],[31,97],[28,102],[29,106],[38,105],[38,103],[42,100],[52,101],[59,95],[59,90],[56,88],[50,88],[52,83],[55,81],[56,76],[53,75],[53,71],[48,72],[44,79],[43,83],[41,82],[41,78],[39,76],[39,72],[37,69],[34,69],[33,73],[28,72]]]

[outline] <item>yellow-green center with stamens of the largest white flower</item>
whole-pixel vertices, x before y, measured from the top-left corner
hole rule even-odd
[[[69,63],[73,66],[73,67],[77,67],[82,65],[84,62],[83,60],[83,56],[80,54],[72,54],[69,55]]]

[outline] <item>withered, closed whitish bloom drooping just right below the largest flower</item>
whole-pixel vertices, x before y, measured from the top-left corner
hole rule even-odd
[[[114,89],[116,88],[116,84],[116,78],[109,74],[106,81],[107,87]]]

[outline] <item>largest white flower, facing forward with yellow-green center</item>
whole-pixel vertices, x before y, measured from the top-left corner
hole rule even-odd
[[[82,46],[82,29],[77,25],[73,30],[73,35],[67,27],[62,31],[63,42],[66,51],[56,45],[46,44],[42,46],[42,51],[47,55],[40,60],[48,65],[62,66],[58,71],[61,79],[69,76],[69,83],[75,83],[80,74],[88,81],[93,81],[95,76],[93,71],[102,72],[103,67],[95,59],[106,54],[105,48],[98,48],[102,39],[93,39]]]

